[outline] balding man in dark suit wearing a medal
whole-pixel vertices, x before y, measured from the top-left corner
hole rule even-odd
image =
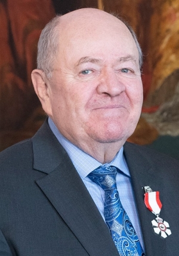
[[[1,153],[0,255],[177,255],[179,163],[125,143],[143,101],[134,32],[85,8],[51,21],[38,48],[32,81],[49,118]],[[92,181],[101,168],[116,180]],[[115,227],[109,198],[109,215],[125,216]]]

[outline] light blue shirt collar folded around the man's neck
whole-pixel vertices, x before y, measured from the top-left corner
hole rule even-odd
[[[87,175],[90,174],[90,172],[92,172],[94,169],[102,165],[96,159],[92,158],[92,156],[88,155],[87,153],[76,147],[74,144],[72,144],[69,140],[67,140],[67,138],[65,138],[58,131],[57,127],[55,126],[51,118],[48,118],[48,124],[51,130],[53,131],[55,137],[57,137],[57,140],[66,150],[67,154],[69,155],[71,161],[73,162],[73,165],[75,166],[81,178],[87,177]],[[124,148],[122,147],[116,154],[115,158],[110,163],[105,165],[116,166],[118,169],[121,170],[121,172],[130,177],[129,169],[126,164],[123,151]]]

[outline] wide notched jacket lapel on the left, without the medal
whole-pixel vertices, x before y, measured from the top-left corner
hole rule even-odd
[[[33,137],[33,152],[34,168],[48,174],[36,183],[88,254],[119,256],[88,190],[47,124]]]

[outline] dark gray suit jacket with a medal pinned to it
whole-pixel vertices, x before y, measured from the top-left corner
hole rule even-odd
[[[126,161],[147,256],[178,255],[179,162],[126,143]],[[153,232],[143,186],[159,190],[161,218],[172,232]],[[1,256],[119,256],[106,224],[47,122],[32,139],[0,154]]]

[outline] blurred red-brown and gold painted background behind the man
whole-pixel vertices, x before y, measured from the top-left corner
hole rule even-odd
[[[55,14],[84,7],[118,13],[143,50],[144,104],[129,141],[179,160],[178,0],[0,0],[0,151],[46,118],[30,79],[41,30]]]

